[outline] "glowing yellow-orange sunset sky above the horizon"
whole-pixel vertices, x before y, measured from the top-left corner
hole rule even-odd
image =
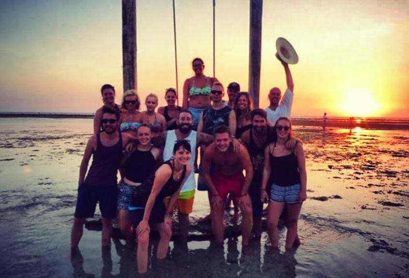
[[[0,2],[0,111],[94,112],[99,88],[122,94],[120,1]],[[176,0],[179,85],[196,56],[212,69],[212,0]],[[248,85],[248,0],[216,0],[216,77]],[[293,116],[409,117],[408,1],[264,0],[260,106],[285,89],[274,57],[287,38],[299,63]],[[138,92],[175,87],[172,1],[137,1]]]

